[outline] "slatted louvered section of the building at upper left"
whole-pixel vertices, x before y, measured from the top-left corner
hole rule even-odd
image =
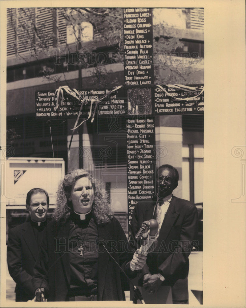
[[[56,8],[7,8],[7,56],[38,55],[58,39],[66,43],[66,22]],[[34,51],[35,49],[35,51]]]

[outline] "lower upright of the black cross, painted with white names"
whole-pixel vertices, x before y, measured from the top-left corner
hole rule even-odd
[[[154,116],[139,115],[126,119],[127,129],[127,205],[131,225],[135,205],[154,193],[155,124]]]

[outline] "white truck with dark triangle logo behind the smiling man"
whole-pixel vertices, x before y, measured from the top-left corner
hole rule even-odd
[[[10,157],[5,164],[7,229],[22,223],[28,216],[26,194],[32,188],[43,188],[50,198],[48,214],[56,204],[59,182],[65,174],[63,158]]]

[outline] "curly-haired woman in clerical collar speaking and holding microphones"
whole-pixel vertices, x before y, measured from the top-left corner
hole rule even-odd
[[[34,286],[48,301],[125,300],[123,278],[101,241],[133,278],[128,245],[113,217],[102,183],[86,170],[68,172],[57,192],[53,222],[47,226],[34,268]],[[136,269],[146,257],[135,252]]]

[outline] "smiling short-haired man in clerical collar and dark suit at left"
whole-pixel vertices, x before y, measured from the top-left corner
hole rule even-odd
[[[48,193],[42,188],[31,189],[26,196],[26,209],[30,218],[9,230],[7,263],[10,276],[16,282],[16,302],[34,298],[33,269],[46,227],[48,207]]]

